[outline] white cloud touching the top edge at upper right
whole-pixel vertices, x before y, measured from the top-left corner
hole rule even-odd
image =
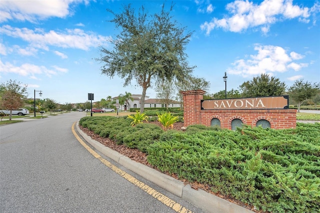
[[[308,22],[310,12],[318,12],[315,8],[317,7],[313,6],[310,9],[293,5],[292,0],[264,0],[260,4],[248,0],[235,0],[226,5],[228,16],[225,15],[221,19],[214,17],[211,21],[202,23],[200,28],[206,34],[210,34],[214,28],[241,32],[250,27],[260,26],[261,31],[266,33],[271,24],[283,19],[298,18],[299,21]]]

